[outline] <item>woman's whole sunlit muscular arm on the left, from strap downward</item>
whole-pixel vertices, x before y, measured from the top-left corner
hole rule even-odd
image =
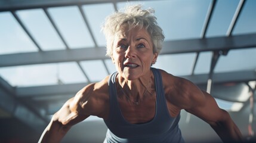
[[[76,123],[87,119],[90,115],[107,118],[108,85],[107,79],[92,83],[81,89],[75,97],[68,100],[51,119],[39,142],[60,142],[67,131]]]

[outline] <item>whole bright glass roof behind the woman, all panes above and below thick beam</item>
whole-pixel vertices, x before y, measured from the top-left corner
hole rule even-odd
[[[202,29],[212,1],[130,3],[153,7],[158,23],[164,30],[165,41],[174,41],[202,37]],[[116,7],[119,9],[126,4],[127,2],[116,2]],[[226,36],[238,5],[239,0],[217,1],[205,37]],[[0,12],[0,54],[103,48],[106,41],[100,26],[104,18],[114,11],[115,5],[104,3],[17,10],[14,13]],[[255,13],[256,1],[246,1],[232,35],[256,33]],[[18,23],[17,17],[35,42]],[[164,69],[176,76],[209,73],[212,53],[200,52],[193,71],[196,55],[195,52],[159,55],[153,67]],[[214,73],[255,70],[255,55],[256,48],[231,50],[226,56],[220,57]],[[115,66],[109,59],[0,67],[0,76],[11,86],[27,87],[97,82],[114,71]]]

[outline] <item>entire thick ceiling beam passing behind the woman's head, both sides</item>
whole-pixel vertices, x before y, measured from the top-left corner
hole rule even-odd
[[[230,37],[165,41],[161,54],[256,48],[255,39],[256,33]],[[105,54],[105,47],[6,54],[0,55],[0,67],[109,59]]]

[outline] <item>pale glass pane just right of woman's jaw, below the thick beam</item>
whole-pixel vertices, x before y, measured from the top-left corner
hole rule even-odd
[[[174,76],[187,76],[192,73],[195,53],[159,55],[153,67],[174,74]]]

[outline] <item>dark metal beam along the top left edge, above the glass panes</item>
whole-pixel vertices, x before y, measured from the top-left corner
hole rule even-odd
[[[129,0],[136,1],[136,0]],[[104,4],[115,2],[127,2],[127,0],[26,0],[26,1],[5,1],[0,0],[0,12],[10,10],[27,10],[33,8],[64,7],[85,4]]]

